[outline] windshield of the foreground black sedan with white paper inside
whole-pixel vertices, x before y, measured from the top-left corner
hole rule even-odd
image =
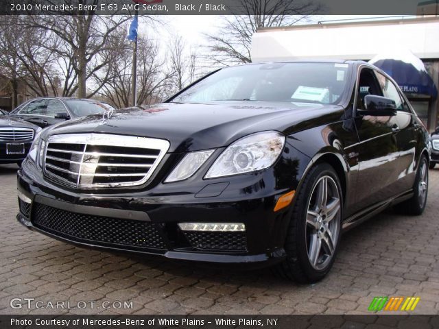
[[[268,63],[235,66],[213,73],[171,101],[289,101],[337,103],[348,64],[321,62]]]

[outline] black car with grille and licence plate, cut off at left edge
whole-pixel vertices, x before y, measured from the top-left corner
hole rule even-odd
[[[20,119],[0,117],[0,163],[21,164],[29,151],[34,136],[41,130]]]

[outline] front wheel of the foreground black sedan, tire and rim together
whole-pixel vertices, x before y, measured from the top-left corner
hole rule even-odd
[[[322,202],[324,184],[327,197]],[[340,180],[329,164],[317,164],[309,171],[294,202],[285,241],[287,257],[276,265],[275,273],[300,283],[317,282],[327,275],[340,241],[342,195]]]

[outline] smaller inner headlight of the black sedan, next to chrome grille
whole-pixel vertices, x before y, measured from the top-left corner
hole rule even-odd
[[[178,180],[185,180],[191,177],[191,175],[200,169],[209,156],[213,154],[213,151],[215,150],[208,149],[206,151],[197,151],[186,154],[185,158],[183,158],[171,174],[167,176],[165,183],[177,182]]]

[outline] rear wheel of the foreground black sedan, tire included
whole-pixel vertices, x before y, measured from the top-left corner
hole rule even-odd
[[[428,195],[428,162],[423,156],[420,158],[416,179],[414,180],[414,195],[410,199],[396,206],[399,213],[421,215],[425,210]]]

